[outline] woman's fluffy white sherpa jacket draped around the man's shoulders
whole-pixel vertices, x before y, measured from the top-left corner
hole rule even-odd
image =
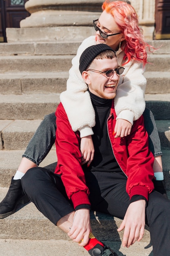
[[[88,86],[79,72],[79,58],[87,47],[95,44],[95,36],[90,36],[79,46],[77,55],[72,59],[66,91],[60,94],[60,100],[71,127],[73,131],[79,130],[81,137],[93,134],[91,127],[95,126],[95,111],[87,91]],[[121,51],[117,55],[120,66],[123,63],[123,57],[124,51]],[[123,67],[125,70],[120,75],[117,87],[115,111],[117,119],[125,119],[133,124],[133,120],[137,120],[145,109],[146,78],[143,75],[142,63],[130,61]]]

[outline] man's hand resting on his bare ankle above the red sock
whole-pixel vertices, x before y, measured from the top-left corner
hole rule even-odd
[[[79,209],[75,211],[73,225],[68,232],[68,236],[79,243],[80,246],[85,246],[88,243],[89,233],[91,232],[90,210]]]

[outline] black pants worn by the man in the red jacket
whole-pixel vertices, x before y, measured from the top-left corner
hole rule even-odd
[[[86,172],[85,175],[92,209],[123,219],[129,205],[125,175],[101,172]],[[27,171],[21,181],[24,193],[55,225],[74,211],[60,175],[36,167]],[[170,200],[157,191],[149,195],[146,223],[150,227],[154,256],[170,256]]]

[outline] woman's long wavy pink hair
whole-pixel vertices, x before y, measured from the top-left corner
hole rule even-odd
[[[146,48],[148,47],[149,52],[151,52],[150,48],[152,46],[144,42],[143,31],[139,27],[138,16],[135,9],[130,4],[123,1],[110,2],[106,0],[102,5],[102,10],[105,10],[113,16],[121,33],[124,34],[124,60],[127,58],[124,65],[132,59],[142,62],[143,66],[145,66],[147,63]],[[155,49],[154,47],[152,48]]]

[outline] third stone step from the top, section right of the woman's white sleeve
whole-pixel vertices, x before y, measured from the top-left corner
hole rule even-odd
[[[170,93],[170,72],[145,72],[145,94]]]

